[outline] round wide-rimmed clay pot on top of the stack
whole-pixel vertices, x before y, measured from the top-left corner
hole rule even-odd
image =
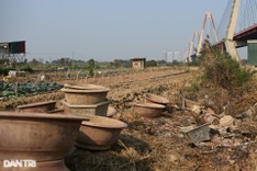
[[[88,105],[97,104],[105,101],[109,88],[102,89],[60,89],[65,92],[65,100],[70,105]]]

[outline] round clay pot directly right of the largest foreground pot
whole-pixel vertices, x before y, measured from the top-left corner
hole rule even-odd
[[[90,150],[107,150],[113,145],[127,125],[119,119],[87,115],[82,122],[75,146]]]

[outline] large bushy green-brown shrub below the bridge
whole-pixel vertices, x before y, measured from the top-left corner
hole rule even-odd
[[[253,79],[253,72],[245,69],[228,54],[210,46],[205,47],[204,52],[200,57],[203,78],[215,86],[228,90],[233,87],[241,87]]]

